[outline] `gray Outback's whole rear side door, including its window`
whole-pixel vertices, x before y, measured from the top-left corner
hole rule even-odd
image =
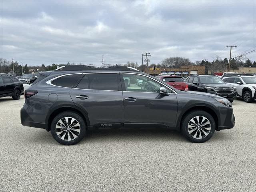
[[[123,124],[124,102],[119,85],[117,73],[85,74],[70,90],[70,96],[76,106],[87,111],[92,126]]]

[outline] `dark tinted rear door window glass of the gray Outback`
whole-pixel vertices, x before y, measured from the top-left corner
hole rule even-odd
[[[118,75],[89,74],[89,89],[118,91]]]

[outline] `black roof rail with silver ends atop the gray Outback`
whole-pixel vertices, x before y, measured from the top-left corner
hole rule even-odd
[[[64,65],[55,71],[91,71],[91,70],[119,70],[119,71],[139,71],[138,69],[127,66],[106,66],[106,65]]]

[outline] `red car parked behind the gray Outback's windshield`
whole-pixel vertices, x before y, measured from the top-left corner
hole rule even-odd
[[[177,75],[162,75],[162,76],[156,76],[156,78],[166,82],[167,84],[173,86],[176,89],[179,90],[188,90],[188,84],[186,84],[182,78],[182,76]]]

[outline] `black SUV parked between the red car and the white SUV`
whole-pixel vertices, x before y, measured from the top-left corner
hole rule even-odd
[[[237,97],[236,87],[226,84],[221,78],[213,75],[192,75],[186,80],[188,90],[216,94],[228,99],[231,103]]]

